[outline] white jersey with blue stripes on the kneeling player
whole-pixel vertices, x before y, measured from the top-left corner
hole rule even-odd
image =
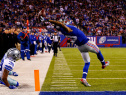
[[[7,69],[8,71],[12,71],[14,66],[15,66],[15,62],[7,58],[5,54],[0,63],[0,78],[3,76],[4,69]]]

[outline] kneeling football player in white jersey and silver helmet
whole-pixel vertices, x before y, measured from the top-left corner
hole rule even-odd
[[[0,63],[0,83],[6,85],[10,89],[15,89],[19,86],[19,83],[8,75],[18,76],[16,72],[13,72],[15,61],[20,59],[20,51],[16,48],[10,48],[4,55]]]

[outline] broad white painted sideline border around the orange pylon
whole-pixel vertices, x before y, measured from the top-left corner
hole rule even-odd
[[[52,56],[52,52],[44,54],[38,53],[36,57],[31,57],[31,61],[27,59],[25,61],[17,61],[13,71],[17,72],[19,76],[10,77],[17,80],[20,86],[18,89],[9,89],[0,85],[0,95],[38,95],[39,92],[35,92],[34,70],[39,70],[40,86],[42,86]]]

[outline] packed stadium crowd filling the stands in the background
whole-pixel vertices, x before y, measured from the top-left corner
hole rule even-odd
[[[27,26],[26,20],[30,29],[54,32],[53,25],[39,20],[42,8],[47,18],[73,24],[88,36],[122,36],[126,43],[126,0],[0,0],[0,6],[0,38],[11,35],[8,41],[14,46],[18,40],[13,38]]]

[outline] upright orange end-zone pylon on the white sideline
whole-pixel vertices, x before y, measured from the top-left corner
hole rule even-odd
[[[34,70],[35,91],[40,91],[39,70]]]

